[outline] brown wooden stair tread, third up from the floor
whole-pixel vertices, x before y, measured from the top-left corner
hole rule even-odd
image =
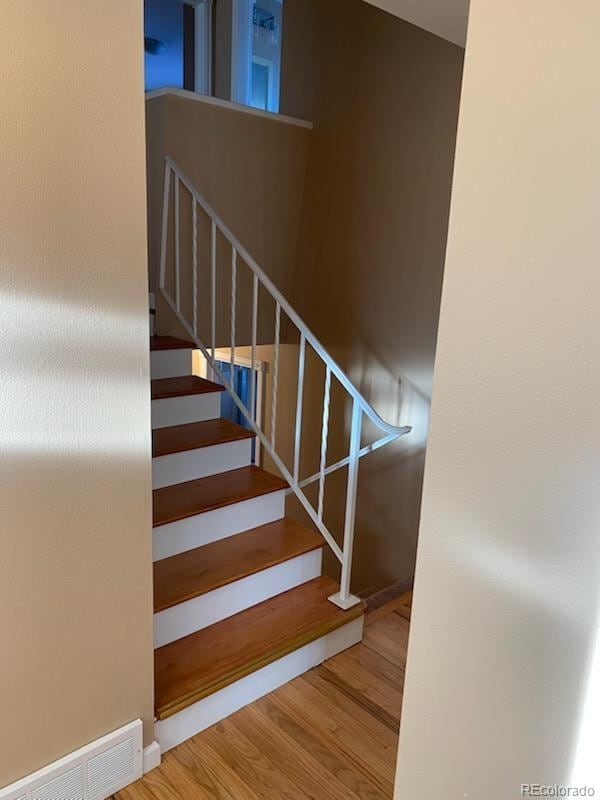
[[[285,488],[287,483],[277,475],[254,466],[165,486],[152,492],[154,527]]]

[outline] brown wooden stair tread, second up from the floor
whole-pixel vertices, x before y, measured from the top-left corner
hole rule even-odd
[[[285,517],[157,561],[154,611],[164,611],[323,545],[319,534]]]

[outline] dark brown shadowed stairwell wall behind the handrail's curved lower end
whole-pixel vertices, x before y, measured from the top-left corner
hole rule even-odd
[[[361,465],[360,592],[414,567],[462,56],[362,0],[284,6],[281,111],[315,125],[292,299],[382,416],[414,426]]]

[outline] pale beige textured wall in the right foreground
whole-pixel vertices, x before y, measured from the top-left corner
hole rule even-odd
[[[600,792],[599,29],[472,2],[399,800]]]

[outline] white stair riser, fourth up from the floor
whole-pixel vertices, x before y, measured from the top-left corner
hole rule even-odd
[[[152,488],[173,486],[195,478],[246,467],[252,460],[252,439],[223,442],[152,459]]]

